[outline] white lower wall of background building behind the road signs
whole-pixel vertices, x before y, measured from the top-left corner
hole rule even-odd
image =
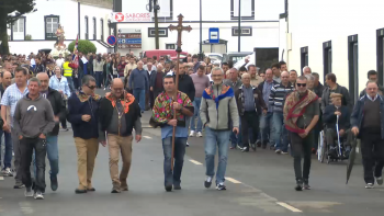
[[[174,23],[172,23],[174,25]],[[159,27],[168,27],[170,23],[160,23]],[[190,33],[182,33],[182,49],[188,53],[199,53],[200,25],[199,23],[184,23],[191,25]],[[278,22],[247,22],[242,26],[252,26],[252,36],[241,36],[241,52],[253,52],[255,47],[279,47],[279,23]],[[208,29],[218,27],[221,39],[228,41],[228,52],[237,52],[237,36],[231,36],[231,27],[237,26],[233,23],[203,23],[203,41],[208,39]],[[154,27],[153,23],[120,23],[117,29],[140,29],[142,30],[142,48],[132,49],[135,54],[142,50],[155,49],[155,37],[148,37],[148,27]],[[159,48],[165,49],[166,44],[177,43],[177,32],[168,31],[168,37],[159,37]],[[122,54],[128,53],[129,49],[118,49]]]

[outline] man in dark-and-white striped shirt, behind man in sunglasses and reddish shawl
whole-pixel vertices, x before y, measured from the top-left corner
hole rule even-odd
[[[269,103],[273,106],[273,127],[274,127],[274,141],[275,152],[276,154],[287,154],[287,137],[286,130],[283,127],[284,124],[284,115],[283,115],[283,106],[285,102],[285,98],[292,91],[294,91],[294,87],[290,83],[290,73],[283,71],[281,73],[281,83],[275,84],[271,89],[271,94],[269,96]],[[282,134],[283,132],[283,134]],[[283,136],[281,136],[283,135]]]

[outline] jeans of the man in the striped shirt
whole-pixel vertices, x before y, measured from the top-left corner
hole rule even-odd
[[[274,141],[276,143],[276,150],[287,151],[287,133],[284,126],[284,115],[281,112],[273,113],[273,128],[274,128]]]

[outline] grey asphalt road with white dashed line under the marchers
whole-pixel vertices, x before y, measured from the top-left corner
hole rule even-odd
[[[146,112],[143,125],[148,126]],[[280,216],[280,215],[383,215],[384,187],[365,190],[362,167],[353,170],[346,182],[346,163],[320,164],[315,159],[310,191],[294,191],[293,159],[258,149],[244,154],[230,150],[227,167],[227,191],[205,189],[204,138],[190,138],[182,173],[182,190],[163,190],[160,130],[145,128],[143,140],[134,144],[129,172],[129,191],[111,194],[108,149],[100,147],[93,186],[95,192],[75,194],[78,185],[77,156],[71,130],[60,132],[59,189],[52,192],[47,179],[44,201],[24,197],[14,190],[12,178],[0,177],[0,216]],[[47,170],[49,166],[47,163]]]

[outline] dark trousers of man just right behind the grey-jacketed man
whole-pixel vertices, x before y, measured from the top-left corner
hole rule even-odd
[[[241,116],[241,135],[244,147],[249,148],[249,128],[251,128],[251,137],[258,137],[259,133],[259,115],[256,111],[246,111]]]

